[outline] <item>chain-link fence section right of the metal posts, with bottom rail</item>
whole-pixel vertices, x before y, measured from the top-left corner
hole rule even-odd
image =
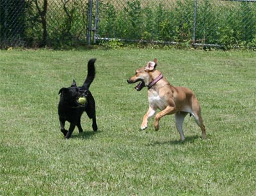
[[[97,40],[184,45],[256,45],[256,1],[103,1]]]

